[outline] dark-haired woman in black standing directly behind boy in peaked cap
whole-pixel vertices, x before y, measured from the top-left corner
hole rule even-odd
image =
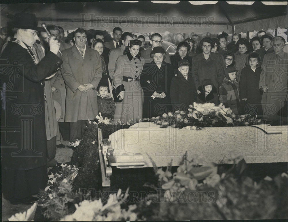
[[[186,41],[179,42],[177,45],[177,52],[175,52],[174,55],[170,56],[170,61],[171,61],[171,66],[173,68],[173,73],[174,75],[177,75],[178,73],[178,62],[181,61],[182,59],[187,59],[189,62],[189,70],[191,71],[192,67],[192,56],[188,55],[188,52],[190,51],[190,44],[187,43]]]

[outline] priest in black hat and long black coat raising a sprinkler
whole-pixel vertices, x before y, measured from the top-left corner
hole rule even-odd
[[[31,49],[38,38],[34,14],[17,13],[12,26],[14,37],[1,54],[2,192],[12,204],[31,204],[48,179],[43,80],[62,60],[51,38],[50,52],[38,61]]]

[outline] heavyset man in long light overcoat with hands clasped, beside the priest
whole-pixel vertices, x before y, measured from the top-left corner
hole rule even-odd
[[[62,76],[67,85],[65,122],[70,122],[70,141],[81,139],[88,118],[98,115],[96,88],[102,78],[102,62],[97,50],[86,46],[83,28],[74,32],[75,45],[62,51]]]

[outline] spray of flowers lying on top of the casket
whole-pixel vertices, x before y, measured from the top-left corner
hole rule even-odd
[[[175,111],[174,113],[164,113],[162,116],[146,119],[155,122],[161,127],[187,127],[194,126],[189,129],[200,129],[201,127],[219,127],[219,126],[248,126],[259,124],[260,119],[253,115],[236,115],[230,108],[225,108],[223,104],[215,106],[214,103],[189,105],[188,111]]]

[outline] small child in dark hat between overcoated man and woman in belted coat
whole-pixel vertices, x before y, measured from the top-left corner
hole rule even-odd
[[[107,81],[109,81],[107,78],[102,78],[97,86],[98,112],[101,112],[103,118],[113,118],[115,112],[115,102],[111,98]]]

